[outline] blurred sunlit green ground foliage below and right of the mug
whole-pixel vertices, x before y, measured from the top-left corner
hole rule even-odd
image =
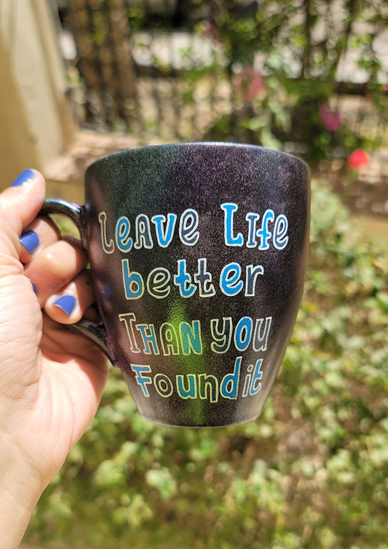
[[[387,549],[388,253],[349,228],[322,181],[312,191],[305,293],[261,417],[217,429],[153,425],[112,369],[30,540]]]

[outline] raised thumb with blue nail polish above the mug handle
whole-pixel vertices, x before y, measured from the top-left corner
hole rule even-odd
[[[0,278],[23,272],[20,236],[42,208],[46,181],[36,170],[25,170],[0,193]]]

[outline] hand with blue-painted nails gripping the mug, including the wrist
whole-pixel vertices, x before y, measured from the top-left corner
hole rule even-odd
[[[103,352],[65,326],[80,320],[94,294],[80,243],[61,239],[47,217],[35,219],[45,192],[41,173],[26,170],[0,194],[0,547],[7,549],[18,547],[108,378]]]

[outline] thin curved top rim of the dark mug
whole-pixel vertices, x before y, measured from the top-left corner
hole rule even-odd
[[[310,174],[310,167],[308,164],[302,160],[299,156],[295,156],[294,154],[286,153],[283,150],[278,149],[270,149],[268,147],[262,147],[262,145],[254,145],[250,143],[235,143],[235,142],[226,142],[226,141],[185,141],[181,143],[161,143],[159,145],[145,145],[144,147],[135,147],[133,149],[124,149],[119,150],[116,153],[111,153],[106,156],[102,156],[102,158],[99,158],[98,160],[95,160],[92,164],[90,164],[87,167],[86,173],[89,170],[92,170],[94,167],[98,167],[101,163],[105,163],[107,161],[110,161],[111,159],[116,159],[118,156],[122,155],[128,155],[128,153],[136,153],[139,150],[145,150],[148,149],[150,152],[155,149],[164,149],[164,148],[170,148],[170,147],[187,147],[190,145],[190,147],[198,147],[198,148],[206,148],[206,147],[216,147],[219,148],[227,148],[227,147],[237,147],[237,148],[243,148],[243,149],[260,149],[262,152],[268,152],[272,155],[283,157],[284,159],[292,159],[293,161],[297,160],[301,163],[302,166],[307,169],[308,174]]]

